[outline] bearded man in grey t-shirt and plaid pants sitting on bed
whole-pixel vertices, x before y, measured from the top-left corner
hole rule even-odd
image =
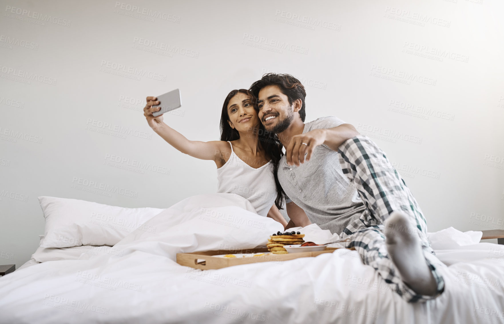
[[[277,174],[288,196],[288,227],[305,222],[302,209],[311,222],[346,239],[406,301],[441,294],[437,267],[444,265],[429,245],[420,207],[384,152],[334,116],[305,124],[306,92],[290,75],[266,74],[249,90],[264,127],[286,149]]]

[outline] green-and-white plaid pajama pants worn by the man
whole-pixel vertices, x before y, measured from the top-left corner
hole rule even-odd
[[[427,224],[411,191],[389,162],[385,153],[368,137],[356,136],[345,141],[338,150],[340,163],[350,181],[357,187],[365,211],[340,234],[347,247],[355,247],[364,264],[373,267],[388,284],[408,302],[423,302],[440,295],[445,289],[443,277],[437,270],[446,267],[434,255],[427,240]],[[410,217],[414,228],[386,229],[384,222],[393,211]],[[385,244],[387,230],[407,230],[420,238],[427,265],[436,281],[434,296],[416,294],[400,277]],[[391,232],[392,233],[392,232]]]

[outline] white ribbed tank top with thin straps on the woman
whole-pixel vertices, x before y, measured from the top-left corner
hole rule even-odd
[[[258,215],[267,216],[275,204],[277,189],[274,165],[268,162],[260,168],[253,168],[243,162],[233,151],[223,166],[217,169],[217,192],[236,193],[252,204]]]

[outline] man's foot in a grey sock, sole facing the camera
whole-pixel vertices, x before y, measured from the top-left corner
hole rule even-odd
[[[403,281],[417,294],[435,295],[436,281],[425,261],[416,227],[397,211],[390,214],[384,225],[387,249]]]

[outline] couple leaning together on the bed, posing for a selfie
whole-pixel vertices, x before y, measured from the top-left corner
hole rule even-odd
[[[247,199],[285,228],[311,222],[345,239],[364,264],[408,302],[445,288],[427,240],[425,218],[385,153],[351,124],[328,116],[304,123],[299,80],[269,73],[249,90],[231,91],[222,106],[221,140],[187,140],[152,112],[149,126],[182,153],[217,165],[217,192]],[[285,155],[282,148],[285,148]],[[279,209],[286,202],[287,224]]]

